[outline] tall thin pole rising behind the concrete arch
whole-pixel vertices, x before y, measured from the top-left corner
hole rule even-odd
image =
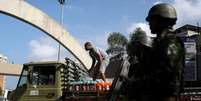
[[[58,0],[60,6],[61,6],[61,15],[60,15],[60,24],[61,26],[63,26],[63,22],[64,22],[64,4],[65,4],[65,0]],[[63,34],[63,32],[61,33],[61,35]],[[59,50],[58,50],[58,61],[60,61],[60,57],[61,57],[61,44],[59,43]]]

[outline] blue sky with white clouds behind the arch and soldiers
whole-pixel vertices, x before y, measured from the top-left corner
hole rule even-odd
[[[12,1],[12,0],[10,0]],[[60,5],[57,0],[25,0],[60,22]],[[145,21],[149,9],[158,3],[172,4],[178,14],[175,28],[201,21],[201,0],[66,0],[63,27],[83,45],[91,41],[107,49],[111,32],[121,32],[127,38],[137,27],[150,36]],[[0,54],[9,63],[57,60],[58,43],[38,29],[15,18],[0,14]],[[62,57],[68,56],[62,48]],[[6,88],[14,89],[18,78],[7,77]]]

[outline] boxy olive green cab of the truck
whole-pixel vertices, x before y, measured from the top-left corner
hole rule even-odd
[[[11,101],[55,101],[62,95],[62,62],[31,62],[24,64],[17,88],[11,92]]]

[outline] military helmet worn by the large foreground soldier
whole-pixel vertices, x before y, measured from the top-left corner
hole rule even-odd
[[[152,16],[159,16],[163,18],[169,18],[169,19],[177,19],[177,13],[175,8],[167,3],[160,3],[154,5],[148,13],[148,16],[146,17],[147,21],[150,21]]]

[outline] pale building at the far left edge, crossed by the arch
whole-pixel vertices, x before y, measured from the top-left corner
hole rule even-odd
[[[0,54],[0,63],[7,63],[8,58],[2,54]],[[6,76],[0,75],[0,87],[2,90],[5,89],[5,83],[6,83]]]

